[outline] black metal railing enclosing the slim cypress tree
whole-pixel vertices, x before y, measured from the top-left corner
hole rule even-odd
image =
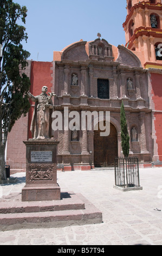
[[[139,187],[139,164],[137,157],[115,158],[115,185]]]

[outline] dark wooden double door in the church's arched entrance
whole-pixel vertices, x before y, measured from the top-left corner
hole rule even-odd
[[[109,136],[101,137],[100,132],[100,129],[94,131],[94,166],[114,166],[114,159],[118,156],[118,141],[115,126],[110,124]]]

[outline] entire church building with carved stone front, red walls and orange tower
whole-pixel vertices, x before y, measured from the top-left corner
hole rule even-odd
[[[26,73],[31,81],[31,94],[38,95],[42,86],[47,86],[48,92],[56,94],[53,112],[61,113],[64,120],[66,110],[69,121],[73,120],[74,111],[79,115],[74,129],[50,131],[51,137],[60,142],[57,162],[63,164],[64,170],[111,167],[115,157],[122,156],[122,101],[130,137],[129,156],[137,156],[141,167],[161,163],[162,60],[157,58],[155,49],[162,42],[158,38],[162,35],[162,4],[158,0],[154,2],[127,1],[128,15],[123,25],[125,46],[115,47],[98,33],[93,41],[80,40],[54,52],[52,62],[28,62]],[[156,25],[152,25],[153,15]],[[31,138],[33,110],[31,102],[28,116],[18,120],[9,134],[7,164],[11,169],[25,168],[23,141]],[[86,125],[86,129],[81,129],[83,112],[92,118],[92,127]],[[101,119],[100,113],[103,113]],[[100,136],[103,131],[100,124],[106,125],[106,113],[109,113],[110,132],[108,136]],[[50,127],[54,120],[54,117],[50,119]]]

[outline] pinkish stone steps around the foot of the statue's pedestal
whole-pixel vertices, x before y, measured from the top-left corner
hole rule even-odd
[[[70,198],[52,202],[15,201],[12,205],[9,205],[11,202],[0,202],[0,230],[102,223],[101,211],[82,194],[69,193],[69,195]]]

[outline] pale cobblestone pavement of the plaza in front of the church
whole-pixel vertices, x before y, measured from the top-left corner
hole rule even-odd
[[[25,173],[12,176],[18,182],[1,185],[0,197],[21,193]],[[94,204],[103,223],[1,231],[0,245],[162,245],[162,168],[140,169],[138,191],[113,188],[113,169],[58,172],[57,182]]]

